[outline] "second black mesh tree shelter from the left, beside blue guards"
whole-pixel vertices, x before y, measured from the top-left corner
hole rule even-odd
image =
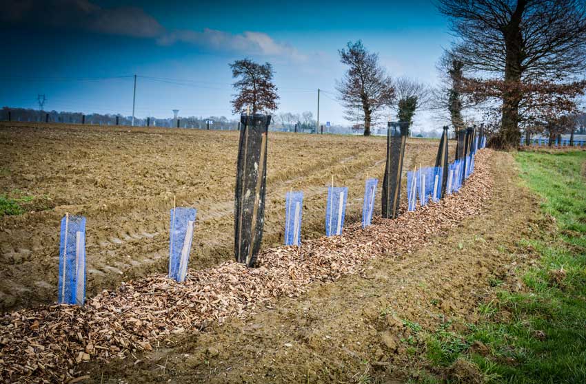
[[[383,178],[383,217],[394,219],[398,216],[401,197],[401,173],[407,141],[408,122],[389,122],[387,127],[387,162]]]

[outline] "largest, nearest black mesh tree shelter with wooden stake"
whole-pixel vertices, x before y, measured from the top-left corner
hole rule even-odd
[[[271,116],[241,116],[236,191],[234,192],[234,255],[254,266],[263,239],[267,178],[267,131]]]

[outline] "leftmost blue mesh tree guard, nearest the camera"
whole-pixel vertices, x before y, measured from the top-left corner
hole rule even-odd
[[[65,215],[59,243],[59,292],[63,304],[85,301],[85,217]]]

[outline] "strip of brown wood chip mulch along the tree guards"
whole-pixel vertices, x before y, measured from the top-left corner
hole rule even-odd
[[[277,297],[297,297],[312,281],[363,273],[367,259],[410,253],[483,209],[492,190],[491,156],[479,151],[475,173],[437,204],[415,212],[405,212],[405,206],[396,220],[378,217],[365,229],[352,224],[343,236],[309,240],[299,248],[263,250],[259,268],[225,262],[190,270],[184,284],[151,275],[104,290],[83,307],[48,305],[4,314],[0,382],[75,383],[84,361],[136,358],[137,352],[170,342],[173,334],[245,318]]]

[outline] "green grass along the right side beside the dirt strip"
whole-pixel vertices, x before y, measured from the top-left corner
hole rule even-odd
[[[523,276],[527,290],[498,292],[468,332],[428,335],[425,358],[434,366],[467,359],[490,383],[586,383],[586,152],[521,152],[516,162],[558,231],[519,244],[540,256]],[[508,320],[497,321],[505,311]]]

